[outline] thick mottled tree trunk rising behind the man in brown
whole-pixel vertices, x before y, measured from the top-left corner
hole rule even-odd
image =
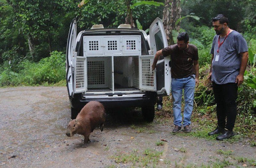
[[[180,30],[180,25],[175,27],[175,22],[180,18],[180,0],[165,0],[163,11],[163,24],[169,45],[174,44],[172,30]]]

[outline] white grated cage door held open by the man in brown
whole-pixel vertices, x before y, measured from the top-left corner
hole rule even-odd
[[[154,55],[139,56],[140,90],[156,91],[156,72],[152,70]]]

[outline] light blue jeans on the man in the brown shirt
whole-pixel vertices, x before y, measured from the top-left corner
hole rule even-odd
[[[172,101],[173,101],[173,124],[181,126],[181,98],[184,89],[184,120],[183,126],[190,125],[191,114],[193,110],[194,92],[195,92],[195,75],[190,75],[185,78],[172,78]]]

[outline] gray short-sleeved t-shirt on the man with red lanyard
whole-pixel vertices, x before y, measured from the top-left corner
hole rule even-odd
[[[219,35],[215,35],[212,42],[212,81],[216,84],[235,83],[241,64],[241,52],[248,51],[244,37],[233,30],[219,48],[219,60],[217,58]],[[220,37],[220,43],[225,37]]]

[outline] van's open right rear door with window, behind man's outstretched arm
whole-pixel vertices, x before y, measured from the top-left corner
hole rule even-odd
[[[155,55],[158,50],[168,47],[164,25],[160,18],[156,18],[149,27],[150,49]],[[156,92],[158,95],[170,95],[171,90],[171,67],[170,56],[158,60],[156,64]]]

